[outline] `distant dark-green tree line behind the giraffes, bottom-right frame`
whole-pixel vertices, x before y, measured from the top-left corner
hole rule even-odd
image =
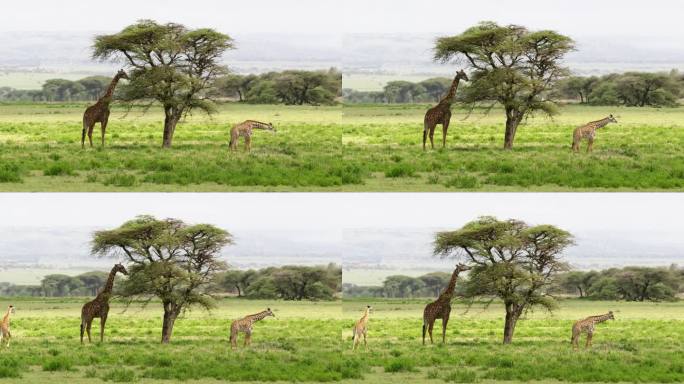
[[[345,297],[419,298],[437,297],[451,274],[433,272],[419,277],[393,275],[380,286],[345,283]],[[456,295],[463,295],[467,276],[459,276]],[[670,267],[624,267],[601,271],[571,271],[559,274],[554,289],[589,300],[670,301],[684,293],[684,269]]]

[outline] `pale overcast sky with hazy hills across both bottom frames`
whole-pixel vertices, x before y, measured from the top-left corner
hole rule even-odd
[[[584,268],[666,265],[684,249],[677,193],[0,194],[0,212],[0,259],[41,263],[87,257],[92,231],[139,214],[227,229],[238,266],[444,266],[430,257],[434,232],[482,215],[570,231],[568,256]]]

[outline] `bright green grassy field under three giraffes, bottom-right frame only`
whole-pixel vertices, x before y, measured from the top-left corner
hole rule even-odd
[[[426,300],[347,300],[343,316],[347,348],[351,327],[366,305],[368,350],[358,351],[371,373],[359,382],[682,382],[684,303],[624,303],[566,300],[553,314],[532,313],[502,345],[503,308],[457,303],[447,343],[421,345]],[[574,352],[573,321],[615,311],[615,321],[597,326],[594,347]],[[439,329],[439,331],[437,331]],[[441,341],[441,323],[435,324]],[[584,342],[584,338],[581,339]],[[429,343],[429,341],[428,341]],[[351,352],[345,352],[347,356]],[[365,381],[364,381],[365,380]]]

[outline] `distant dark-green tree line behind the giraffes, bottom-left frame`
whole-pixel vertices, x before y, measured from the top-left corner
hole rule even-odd
[[[107,272],[94,271],[77,276],[46,275],[39,285],[0,282],[0,296],[95,296],[107,276]],[[342,269],[338,265],[290,265],[218,273],[211,291],[252,299],[332,300],[338,296],[341,284]]]

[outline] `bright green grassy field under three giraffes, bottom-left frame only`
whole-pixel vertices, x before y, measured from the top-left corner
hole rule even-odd
[[[0,349],[0,383],[333,381],[360,377],[360,356],[341,356],[339,302],[225,299],[210,313],[177,320],[169,345],[159,343],[161,307],[113,305],[106,338],[81,346],[85,300],[0,299],[17,310],[10,348]],[[232,319],[270,307],[276,318],[254,326],[251,348],[231,351]],[[98,329],[95,320],[93,330]],[[94,334],[99,334],[95,332]],[[242,341],[242,337],[239,341]]]

